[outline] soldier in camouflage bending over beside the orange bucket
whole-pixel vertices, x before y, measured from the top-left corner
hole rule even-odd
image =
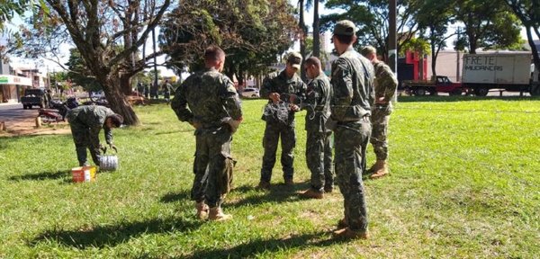
[[[99,143],[99,131],[104,129],[105,141],[109,147],[116,150],[112,143],[112,128],[120,127],[123,122],[121,115],[112,112],[111,109],[99,105],[84,105],[76,107],[66,115],[71,134],[75,142],[76,158],[79,165],[89,165],[86,160],[86,148],[90,150],[95,165],[99,165],[101,145]]]

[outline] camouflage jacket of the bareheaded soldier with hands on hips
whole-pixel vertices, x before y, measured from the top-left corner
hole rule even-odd
[[[176,89],[171,108],[178,120],[198,123],[202,129],[220,127],[228,117],[237,121],[242,117],[232,81],[213,67],[187,77]]]

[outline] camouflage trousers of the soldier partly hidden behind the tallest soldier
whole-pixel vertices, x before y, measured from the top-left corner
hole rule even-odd
[[[372,109],[372,135],[370,142],[374,146],[377,160],[388,158],[388,121],[392,110],[386,105],[375,105]]]

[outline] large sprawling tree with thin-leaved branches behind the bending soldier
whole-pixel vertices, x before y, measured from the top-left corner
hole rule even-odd
[[[102,85],[114,112],[128,125],[139,124],[126,95],[130,78],[148,66],[137,58],[150,31],[161,21],[170,0],[40,0],[31,28],[23,28],[26,55],[43,57],[73,44],[89,72]]]

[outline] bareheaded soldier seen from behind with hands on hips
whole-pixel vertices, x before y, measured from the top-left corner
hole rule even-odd
[[[211,46],[205,50],[204,60],[206,69],[187,77],[176,89],[171,108],[180,121],[187,121],[195,128],[191,198],[195,201],[197,216],[225,220],[232,216],[221,210],[224,191],[228,191],[223,186],[229,184],[223,183],[222,174],[232,163],[230,142],[242,121],[242,111],[232,81],[220,73],[225,64],[225,52]]]

